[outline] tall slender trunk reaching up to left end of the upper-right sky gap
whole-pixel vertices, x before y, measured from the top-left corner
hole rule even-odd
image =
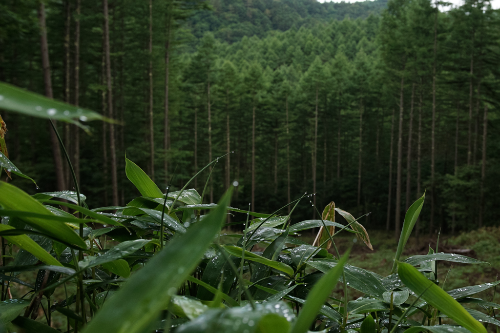
[[[432,124],[430,128],[430,219],[429,235],[434,228],[434,188],[435,188],[435,125],[436,125],[436,61],[437,61],[437,4],[434,15],[434,61],[432,64]]]

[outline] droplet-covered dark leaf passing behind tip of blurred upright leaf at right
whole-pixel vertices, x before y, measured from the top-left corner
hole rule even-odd
[[[313,259],[305,263],[323,273],[327,273],[337,265],[337,261],[334,259]],[[387,290],[371,272],[345,264],[344,273],[349,287],[376,299],[383,300],[382,294]],[[342,280],[340,279],[340,281]]]

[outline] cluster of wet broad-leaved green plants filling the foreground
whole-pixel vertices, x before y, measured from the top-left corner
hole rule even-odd
[[[78,112],[70,109],[61,120]],[[24,176],[6,156],[0,162]],[[294,208],[308,196],[288,204],[289,215],[280,215],[288,205],[260,214],[230,207],[232,189],[217,204],[203,204],[204,194],[188,189],[190,181],[162,193],[129,160],[125,173],[141,196],[124,207],[90,209],[77,186],[30,196],[0,182],[0,331],[59,332],[46,325],[54,312],[67,318],[66,332],[84,333],[486,333],[486,326],[500,326],[494,312],[500,305],[493,303],[500,282],[445,292],[446,279],[437,277],[437,261],[487,263],[432,249],[399,260],[424,196],[406,212],[391,274],[382,277],[349,265],[349,250],[339,254],[335,237],[342,232],[371,245],[349,213],[334,208],[346,223],[334,222],[333,205],[318,212],[321,219],[291,224]],[[242,235],[221,234],[228,211],[247,214],[231,223],[244,224]],[[323,228],[319,246],[294,237],[317,227]],[[256,245],[265,250],[252,252]],[[20,279],[27,271],[37,272],[35,281]],[[343,297],[331,298],[338,283]],[[29,292],[10,299],[13,284]],[[352,289],[364,296],[349,299]],[[490,300],[473,297],[487,290],[493,290]],[[56,291],[63,291],[62,302],[54,302]],[[44,315],[36,320],[40,308]]]

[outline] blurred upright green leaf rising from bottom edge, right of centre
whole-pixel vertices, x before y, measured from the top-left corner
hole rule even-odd
[[[295,325],[293,326],[291,333],[304,333],[310,327],[311,323],[316,319],[317,313],[321,306],[326,302],[328,296],[337,284],[338,278],[342,274],[342,268],[347,258],[349,257],[349,251],[347,251],[342,258],[338,261],[338,264],[326,273],[321,280],[319,280],[312,290],[307,295],[305,304],[298,315]]]

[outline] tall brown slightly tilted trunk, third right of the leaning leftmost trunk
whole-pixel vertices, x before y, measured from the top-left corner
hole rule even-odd
[[[111,58],[109,51],[109,14],[107,0],[102,0],[104,13],[104,54],[106,60],[106,84],[107,84],[107,116],[113,118],[113,91],[111,82]],[[111,190],[112,204],[118,206],[118,181],[116,177],[116,146],[114,142],[114,124],[109,123],[109,154],[111,155]]]

